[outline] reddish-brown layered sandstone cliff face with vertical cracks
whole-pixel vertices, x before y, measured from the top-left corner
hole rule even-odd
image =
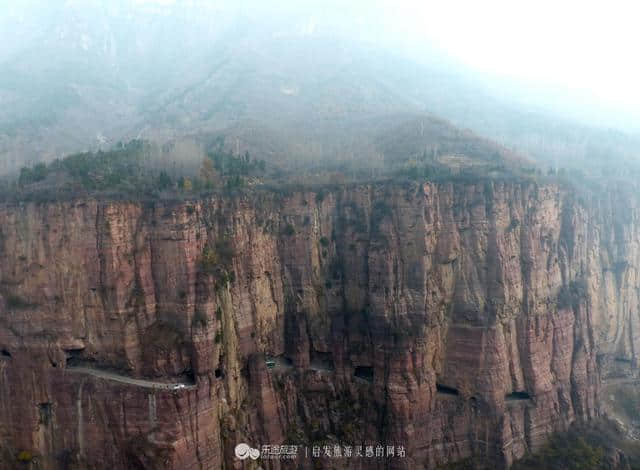
[[[622,192],[516,183],[1,206],[0,466],[508,465],[634,369],[639,229]]]

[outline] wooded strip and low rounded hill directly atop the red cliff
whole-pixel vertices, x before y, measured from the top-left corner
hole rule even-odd
[[[332,159],[267,158],[239,139],[221,134],[159,145],[147,140],[118,143],[109,150],[71,154],[24,166],[1,184],[3,199],[52,200],[86,194],[114,198],[193,197],[249,189],[287,191],[299,187],[387,180],[442,181],[523,179],[563,182],[597,189],[607,181],[633,182],[640,167],[600,170],[563,168],[531,161],[468,130],[433,116],[403,116],[361,138],[367,156]],[[262,142],[268,146],[268,142]],[[259,145],[259,144],[257,144]]]

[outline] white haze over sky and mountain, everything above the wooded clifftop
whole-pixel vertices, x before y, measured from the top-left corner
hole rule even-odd
[[[640,160],[638,8],[0,0],[0,175],[118,140],[226,133],[248,119],[335,153],[326,148],[346,129],[338,117],[403,112],[433,113],[554,164]],[[322,134],[327,123],[336,128]]]

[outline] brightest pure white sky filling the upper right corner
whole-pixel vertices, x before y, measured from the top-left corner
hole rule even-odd
[[[406,1],[388,11],[389,21],[477,70],[629,112],[640,105],[636,2]]]

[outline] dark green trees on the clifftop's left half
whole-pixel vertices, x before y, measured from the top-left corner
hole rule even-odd
[[[42,200],[82,192],[156,197],[160,192],[176,195],[220,188],[233,193],[245,188],[248,178],[263,177],[267,168],[264,160],[252,159],[248,152],[236,156],[227,151],[223,139],[216,141],[197,173],[176,174],[175,160],[170,171],[159,159],[160,152],[149,142],[132,140],[107,151],[76,153],[48,165],[23,167],[14,183],[0,182],[0,192],[6,198],[18,190],[22,198]]]

